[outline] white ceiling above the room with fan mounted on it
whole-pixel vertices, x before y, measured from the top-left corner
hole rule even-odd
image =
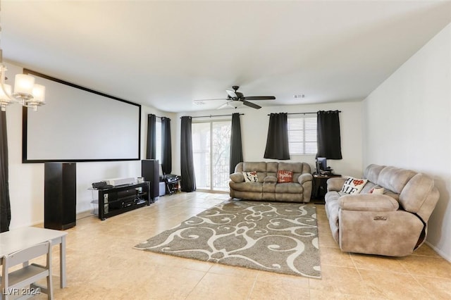
[[[451,22],[450,1],[3,0],[4,60],[153,106],[359,101]],[[293,95],[304,94],[295,99]]]

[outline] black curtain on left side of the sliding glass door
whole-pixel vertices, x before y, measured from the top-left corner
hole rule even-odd
[[[196,177],[194,176],[194,161],[192,158],[192,130],[191,117],[182,117],[180,132],[180,169],[182,192],[194,192],[196,190]]]

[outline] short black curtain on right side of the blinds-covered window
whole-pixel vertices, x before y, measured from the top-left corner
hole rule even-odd
[[[318,111],[316,118],[316,157],[342,159],[339,111]]]

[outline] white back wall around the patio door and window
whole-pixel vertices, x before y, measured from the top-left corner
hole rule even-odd
[[[328,165],[335,173],[353,176],[362,175],[362,103],[346,102],[335,104],[295,105],[295,106],[266,106],[261,109],[238,108],[215,111],[180,113],[183,115],[224,115],[244,113],[240,116],[241,135],[244,161],[271,161],[263,158],[268,135],[268,113],[310,113],[316,111],[335,111],[340,113],[340,130],[342,143],[342,160],[328,160]],[[180,174],[180,118],[177,118],[175,135],[177,141],[173,146],[173,173]],[[291,156],[290,161],[309,163],[314,170],[315,156]]]

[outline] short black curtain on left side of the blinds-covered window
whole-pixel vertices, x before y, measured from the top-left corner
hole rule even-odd
[[[288,113],[271,113],[264,158],[290,159]]]

